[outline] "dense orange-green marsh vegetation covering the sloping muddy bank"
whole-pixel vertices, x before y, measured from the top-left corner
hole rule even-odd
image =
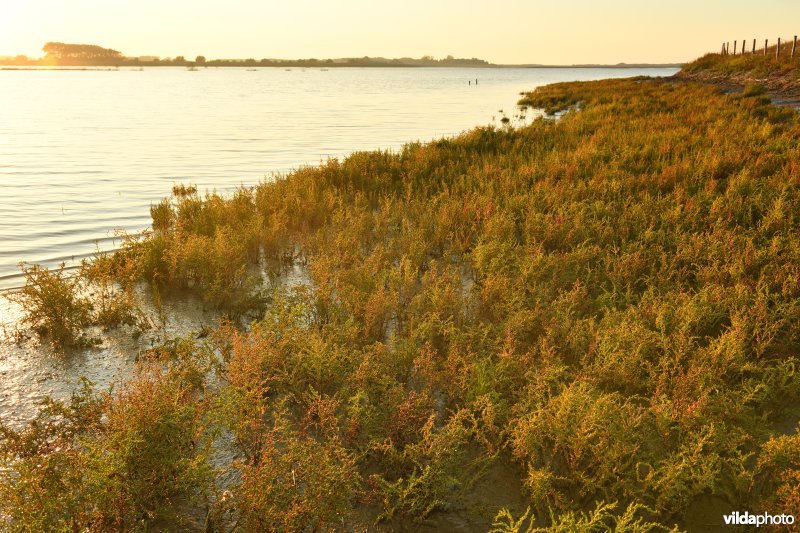
[[[31,426],[64,444],[7,479],[63,458],[88,465],[94,492],[64,475],[8,515],[68,493],[93,514],[64,523],[99,523],[117,479],[153,470],[170,475],[122,500],[146,525],[205,513],[223,531],[263,516],[275,529],[512,531],[550,502],[552,530],[635,515],[642,529],[700,531],[790,505],[796,132],[766,126],[796,116],[664,81],[541,86],[519,104],[581,111],[357,152],[227,198],[174,187],[151,209],[153,233],[94,263],[86,287],[141,283],[159,306],[193,294],[262,318],[159,338],[118,395],[86,396],[106,418]],[[309,283],[250,299],[247,268],[263,258],[308,267]],[[235,437],[224,459],[242,459],[201,477],[194,465],[219,468],[220,454],[198,436],[223,432]],[[131,459],[117,466],[120,450]],[[296,490],[312,486],[313,500]],[[208,503],[173,519],[142,496],[156,491]],[[627,500],[654,510],[608,503]]]

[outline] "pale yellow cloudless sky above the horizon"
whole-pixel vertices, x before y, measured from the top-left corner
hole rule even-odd
[[[798,0],[0,0],[0,55],[31,57],[62,41],[209,59],[668,63],[798,33]]]

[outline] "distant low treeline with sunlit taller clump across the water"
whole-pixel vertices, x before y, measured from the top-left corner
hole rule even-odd
[[[486,67],[492,66],[483,59],[462,59],[447,56],[434,59],[423,56],[419,59],[403,57],[353,57],[340,59],[211,59],[197,56],[193,60],[184,56],[159,58],[155,56],[126,57],[117,50],[89,44],[49,42],[42,50],[41,59],[24,55],[0,57],[0,64],[15,66],[75,66],[75,67],[125,67],[125,66],[207,66],[207,67]]]

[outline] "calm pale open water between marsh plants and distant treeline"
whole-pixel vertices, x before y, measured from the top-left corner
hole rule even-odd
[[[0,288],[144,229],[174,183],[225,191],[513,118],[520,91],[675,69],[0,71]],[[478,79],[475,85],[474,80]],[[468,85],[468,80],[473,80]],[[530,117],[530,114],[529,114]]]

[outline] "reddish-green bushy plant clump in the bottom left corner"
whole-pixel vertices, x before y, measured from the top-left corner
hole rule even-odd
[[[177,353],[177,352],[176,352]],[[148,354],[111,393],[88,382],[69,404],[49,401],[21,430],[0,426],[0,520],[10,530],[178,527],[186,502],[210,492],[202,383],[184,347]]]

